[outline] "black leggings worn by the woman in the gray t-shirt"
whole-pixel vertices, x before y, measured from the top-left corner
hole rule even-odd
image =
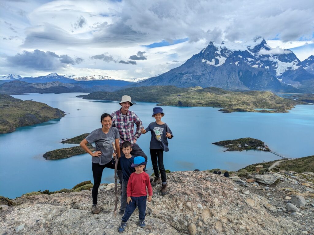
[[[98,197],[98,188],[101,182],[101,176],[102,176],[102,171],[105,168],[110,168],[110,169],[115,169],[115,161],[114,159],[112,159],[110,162],[108,162],[106,165],[100,165],[98,163],[93,163],[92,162],[92,171],[93,171],[93,178],[94,178],[94,186],[93,186],[93,190],[92,190],[92,197],[93,197],[93,204],[97,204],[97,197]],[[117,166],[117,170],[119,170],[121,172],[121,175],[118,174],[117,171],[117,175],[119,177],[119,180],[122,180],[122,170],[121,170],[121,166],[120,166],[120,162],[118,161],[118,166]]]

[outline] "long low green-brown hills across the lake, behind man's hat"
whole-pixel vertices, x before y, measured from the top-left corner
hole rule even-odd
[[[281,98],[269,91],[225,91],[215,87],[144,86],[115,92],[93,92],[81,95],[84,99],[119,101],[129,95],[134,101],[156,102],[161,106],[209,106],[223,108],[223,112],[287,112],[296,104],[305,103]],[[266,108],[273,110],[255,110]]]

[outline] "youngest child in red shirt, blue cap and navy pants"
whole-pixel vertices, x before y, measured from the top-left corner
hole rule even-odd
[[[136,207],[139,212],[139,226],[144,228],[145,224],[145,212],[146,212],[146,200],[150,202],[152,200],[153,190],[150,185],[149,175],[143,171],[147,161],[143,157],[135,157],[133,159],[132,167],[135,168],[135,172],[130,175],[127,183],[127,208],[121,220],[119,232],[124,232],[127,226],[127,220],[130,218]],[[148,191],[148,198],[147,192]]]

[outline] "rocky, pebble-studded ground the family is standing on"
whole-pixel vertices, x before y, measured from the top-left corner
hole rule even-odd
[[[138,226],[135,211],[124,234],[314,234],[313,173],[238,175],[168,173],[169,192],[161,196],[159,186],[153,188],[147,226]],[[112,184],[100,187],[96,215],[88,190],[29,194],[13,201],[17,205],[0,211],[0,234],[118,234],[121,216],[114,217]]]

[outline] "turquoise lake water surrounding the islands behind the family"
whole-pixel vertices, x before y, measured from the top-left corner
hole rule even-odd
[[[60,141],[100,128],[101,114],[120,108],[118,102],[84,100],[76,97],[80,94],[85,93],[13,96],[46,103],[65,111],[67,115],[0,135],[0,195],[14,198],[31,191],[72,188],[85,180],[93,182],[89,154],[52,161],[42,157],[47,151],[75,146],[61,144]],[[155,105],[137,102],[130,110],[147,127],[154,121],[151,115]],[[211,107],[163,109],[165,116],[162,121],[169,125],[174,135],[169,140],[170,151],[164,153],[165,168],[171,171],[238,170],[249,164],[280,158],[258,150],[224,152],[225,148],[212,144],[244,137],[265,141],[270,149],[288,158],[314,154],[314,105],[297,105],[289,113],[222,113]],[[147,133],[137,143],[148,155],[147,169],[151,174],[149,141],[150,133]],[[113,170],[105,169],[102,183],[113,182],[113,175]]]

